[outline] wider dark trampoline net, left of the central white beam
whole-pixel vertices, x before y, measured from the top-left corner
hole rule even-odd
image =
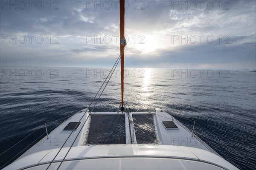
[[[86,144],[126,144],[124,114],[91,115]]]

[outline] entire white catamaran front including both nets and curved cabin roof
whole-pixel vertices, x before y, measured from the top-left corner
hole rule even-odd
[[[60,169],[237,169],[161,109],[90,115],[85,111],[63,122],[49,139],[44,137],[5,169],[46,169],[72,132],[64,128],[83,115],[50,169],[58,167],[77,135]],[[166,128],[166,122],[175,128]]]

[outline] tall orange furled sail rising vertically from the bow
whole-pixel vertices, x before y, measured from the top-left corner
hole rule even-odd
[[[121,92],[122,106],[124,103],[124,59],[125,59],[125,0],[119,0],[120,3],[120,54],[121,54]]]

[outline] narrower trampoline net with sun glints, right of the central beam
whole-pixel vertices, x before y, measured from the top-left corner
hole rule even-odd
[[[134,130],[138,144],[157,142],[154,119],[152,114],[133,114]]]

